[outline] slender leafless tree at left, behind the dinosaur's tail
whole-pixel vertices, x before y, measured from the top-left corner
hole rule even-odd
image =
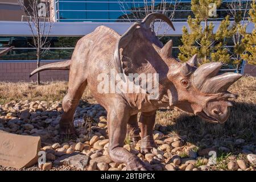
[[[49,49],[48,36],[52,24],[49,20],[49,7],[47,0],[19,0],[19,4],[27,18],[28,26],[32,32],[32,47],[36,49],[37,63],[40,67],[41,57]],[[37,73],[37,82],[40,85],[40,74]]]

